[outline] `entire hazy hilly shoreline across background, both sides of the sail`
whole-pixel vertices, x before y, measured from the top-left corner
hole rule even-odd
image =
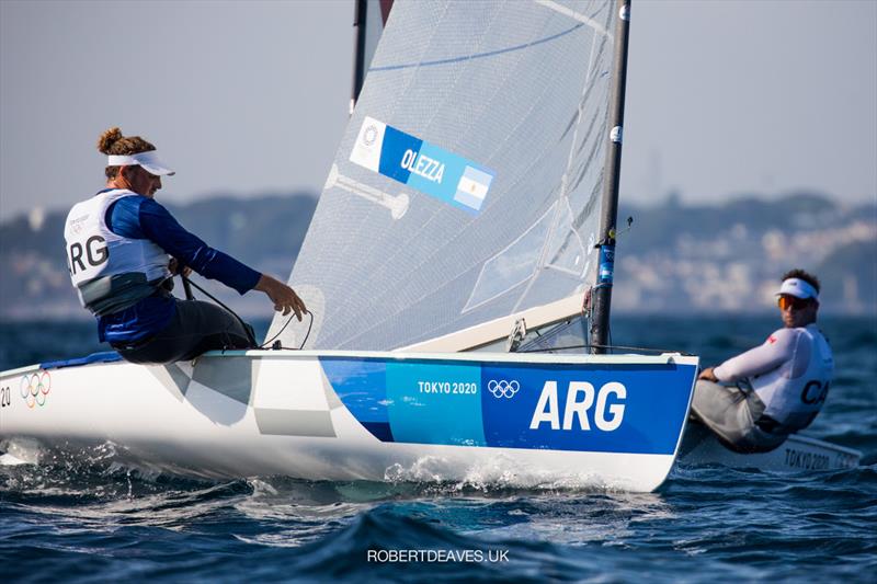
[[[236,198],[217,194],[168,207],[212,245],[286,278],[316,207],[308,193]],[[64,253],[66,211],[0,224],[0,318],[90,318],[79,308]],[[824,311],[877,313],[877,204],[845,207],[813,193],[722,205],[623,205],[613,310],[759,312],[771,310],[777,278],[790,267],[823,283]],[[39,219],[39,218],[37,218]],[[205,284],[244,314],[271,314],[262,295]]]

